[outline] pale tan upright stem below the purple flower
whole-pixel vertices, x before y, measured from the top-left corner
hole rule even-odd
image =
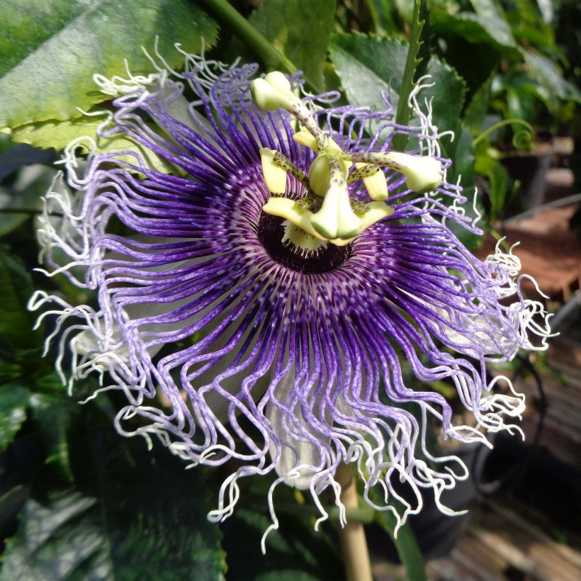
[[[341,502],[346,509],[357,508],[357,489],[353,472],[344,463],[337,468],[337,482],[341,485]],[[345,563],[347,581],[372,581],[369,551],[361,522],[348,522],[339,529],[339,541]]]

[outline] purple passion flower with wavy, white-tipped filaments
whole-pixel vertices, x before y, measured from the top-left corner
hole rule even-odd
[[[59,342],[61,373],[72,355],[71,387],[97,373],[95,395],[125,395],[121,434],[156,436],[188,466],[235,459],[210,519],[232,514],[240,478],[273,471],[271,528],[280,483],[310,490],[325,519],[319,496],[332,487],[340,504],[342,462],[374,507],[402,504],[398,519],[419,511],[422,489],[449,512],[439,497],[466,466],[429,451],[428,419],[463,442],[518,430],[505,420],[524,398],[507,378],[496,391],[485,365],[543,349],[548,317],[521,295],[512,252],[480,261],[447,225],[480,232],[446,181],[421,86],[414,125],[402,127],[387,95],[385,111],[334,106],[334,93],[300,98],[298,75],[255,74],[187,55],[183,74],[96,76],[115,97],[101,137],[136,147],[91,142],[81,171],[72,143],[74,193],[48,193],[40,227],[50,276],[96,299],[39,292],[30,306],[57,305],[41,318],[56,317],[48,342]],[[390,150],[401,133],[410,154]],[[472,425],[452,423],[436,380],[456,387]]]

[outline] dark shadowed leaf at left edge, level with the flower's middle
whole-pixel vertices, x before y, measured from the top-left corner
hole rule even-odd
[[[0,248],[0,345],[10,351],[34,349],[42,344],[42,334],[33,331],[36,315],[26,310],[32,293],[28,272]]]

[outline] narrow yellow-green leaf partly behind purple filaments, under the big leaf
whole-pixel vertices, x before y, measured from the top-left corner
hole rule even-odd
[[[102,123],[102,117],[94,116],[84,116],[69,121],[50,120],[43,123],[21,125],[21,127],[13,130],[11,137],[16,142],[28,143],[35,147],[54,147],[56,150],[62,150],[69,142],[79,137],[89,137],[96,143],[94,153],[134,151],[140,154],[142,162],[149,169],[155,169],[163,174],[171,174],[178,171],[173,164],[159,157],[152,150],[144,147],[123,132],[115,133],[115,135],[110,137],[98,137],[96,130]],[[79,150],[82,153],[88,153],[89,142],[79,142]],[[137,165],[137,160],[132,154],[120,155],[118,159]]]

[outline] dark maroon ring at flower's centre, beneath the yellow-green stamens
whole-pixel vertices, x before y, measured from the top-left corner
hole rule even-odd
[[[336,246],[303,232],[293,232],[295,226],[279,216],[262,212],[256,236],[271,259],[286,268],[303,274],[320,274],[342,266],[352,254],[352,244]],[[312,242],[312,244],[311,244]]]

